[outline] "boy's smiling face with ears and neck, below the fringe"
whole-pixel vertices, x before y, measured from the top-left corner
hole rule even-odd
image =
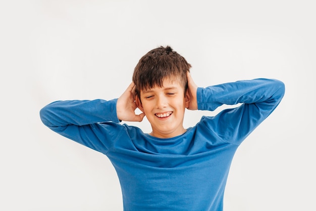
[[[163,87],[140,91],[140,100],[136,98],[136,104],[151,124],[151,136],[172,138],[185,133],[183,118],[190,97],[178,80],[165,78]]]

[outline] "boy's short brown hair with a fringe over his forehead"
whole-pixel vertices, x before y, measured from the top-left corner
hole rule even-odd
[[[159,47],[149,51],[138,62],[133,73],[136,94],[154,86],[163,86],[166,77],[175,77],[183,83],[184,93],[188,87],[186,72],[191,65],[170,46]]]

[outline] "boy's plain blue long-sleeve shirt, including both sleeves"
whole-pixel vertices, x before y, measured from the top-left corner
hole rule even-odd
[[[42,108],[40,117],[51,130],[107,155],[125,211],[221,211],[236,149],[277,107],[284,91],[283,82],[264,78],[198,88],[199,110],[240,105],[203,116],[186,133],[167,139],[120,123],[116,99],[57,101]]]

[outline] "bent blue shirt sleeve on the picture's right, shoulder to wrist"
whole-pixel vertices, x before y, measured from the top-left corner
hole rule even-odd
[[[216,116],[203,117],[210,133],[225,142],[239,145],[279,105],[285,92],[282,81],[258,78],[198,88],[199,110],[214,111],[223,104],[236,105]]]

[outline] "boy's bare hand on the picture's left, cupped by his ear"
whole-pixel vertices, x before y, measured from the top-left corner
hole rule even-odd
[[[127,90],[121,95],[116,104],[117,116],[121,121],[142,121],[145,114],[136,114],[135,85],[132,82]]]

